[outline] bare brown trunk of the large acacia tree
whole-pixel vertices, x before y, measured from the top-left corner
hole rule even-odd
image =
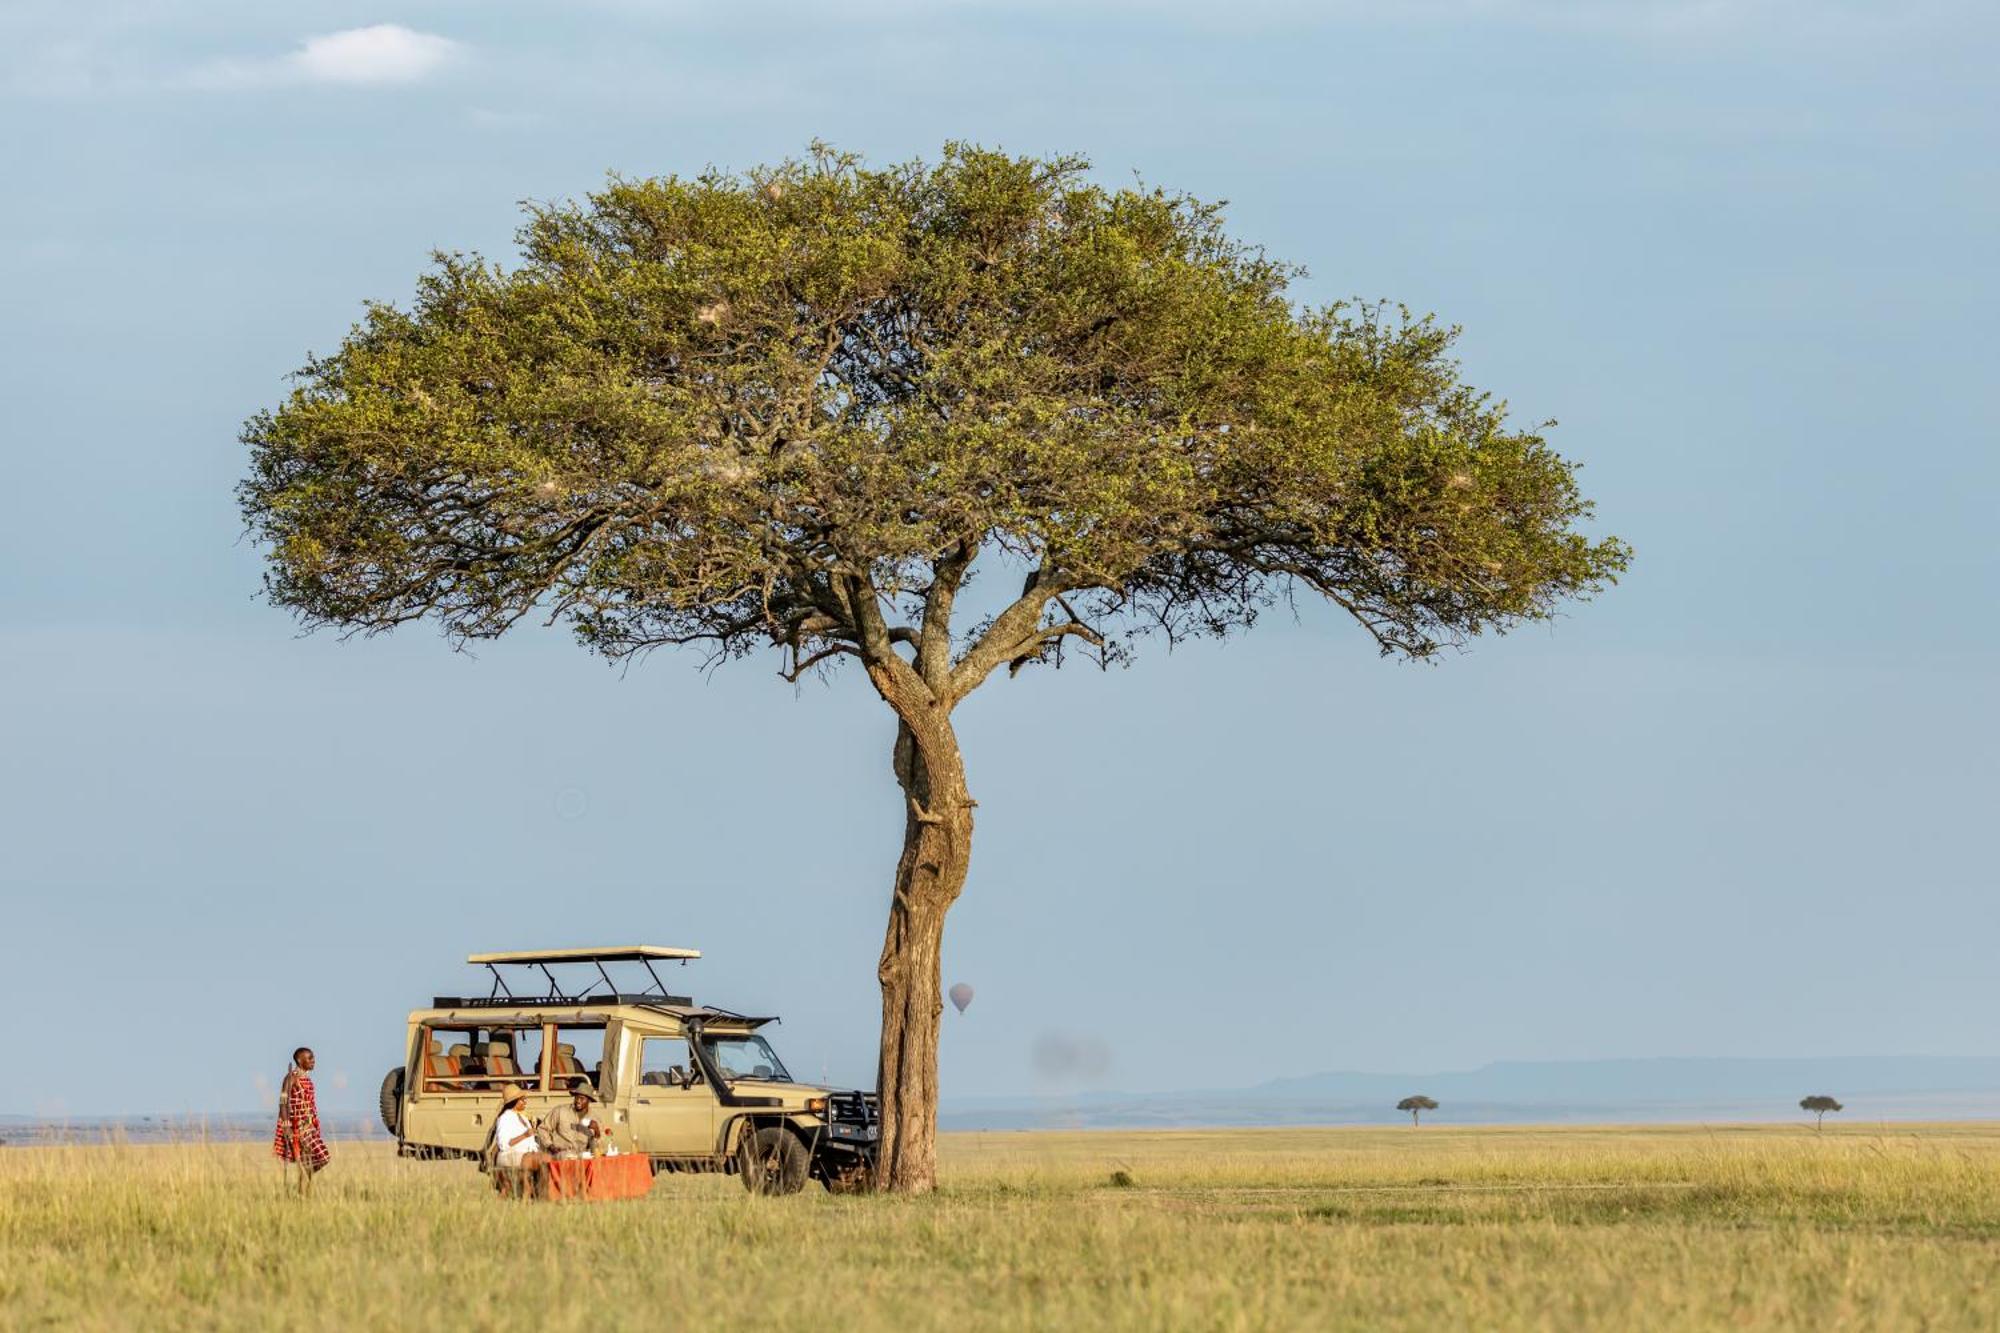
[[[876,1187],[904,1195],[938,1183],[938,953],[944,913],[966,885],[972,801],[958,737],[942,717],[896,727],[896,783],[904,795],[902,859],[888,909],[882,981],[882,1141]]]

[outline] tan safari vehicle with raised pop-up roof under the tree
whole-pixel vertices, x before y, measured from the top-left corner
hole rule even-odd
[[[620,1153],[660,1171],[728,1171],[754,1193],[788,1195],[816,1179],[860,1189],[874,1165],[874,1093],[798,1083],[752,1019],[670,995],[658,963],[698,949],[548,949],[476,953],[492,973],[484,997],[438,995],[410,1015],[404,1061],[382,1079],[382,1123],[404,1157],[478,1157],[500,1113],[500,1085],[528,1089],[528,1119],[570,1099],[576,1079],[598,1093],[598,1117]],[[620,991],[608,965],[650,979]],[[556,971],[594,973],[564,985]],[[516,983],[510,985],[512,973]],[[546,981],[546,993],[532,995]]]

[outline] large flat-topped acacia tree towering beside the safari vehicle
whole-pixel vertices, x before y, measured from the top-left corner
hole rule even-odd
[[[816,146],[614,178],[528,206],[512,268],[438,254],[244,428],[266,594],[306,626],[428,618],[462,646],[534,616],[612,658],[860,666],[904,797],[876,969],[900,1191],[934,1183],[972,691],[1298,592],[1422,658],[1626,560],[1576,530],[1572,464],[1460,382],[1452,330],[1294,306],[1298,270],[1218,206],[1086,168]]]

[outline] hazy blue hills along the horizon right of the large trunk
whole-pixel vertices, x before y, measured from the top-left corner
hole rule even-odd
[[[1828,1093],[1850,1121],[2000,1117],[2000,1057],[1500,1061],[1480,1069],[1382,1075],[1316,1073],[1246,1089],[966,1099],[940,1107],[946,1129],[1388,1125],[1396,1101],[1436,1097],[1426,1123],[1720,1123],[1802,1119],[1798,1099]]]

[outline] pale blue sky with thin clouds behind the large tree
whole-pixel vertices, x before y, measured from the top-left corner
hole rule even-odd
[[[948,1099],[1064,1091],[1052,1041],[1122,1089],[2000,1053],[1996,36],[1922,0],[14,0],[0,1113],[254,1107],[300,1041],[360,1105],[466,953],[538,943],[702,947],[796,1071],[872,1077],[900,815],[858,677],[298,638],[230,496],[242,418],[432,248],[812,138],[1226,198],[1302,298],[1464,324],[1638,548],[1436,666],[1308,608],[982,691]]]

